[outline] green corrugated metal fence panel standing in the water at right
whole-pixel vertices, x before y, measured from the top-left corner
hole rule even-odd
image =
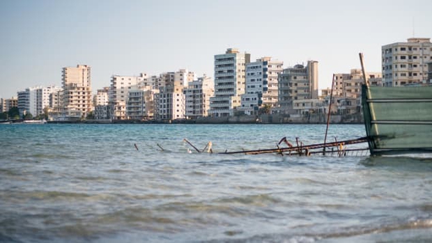
[[[432,86],[362,86],[371,155],[432,152]]]

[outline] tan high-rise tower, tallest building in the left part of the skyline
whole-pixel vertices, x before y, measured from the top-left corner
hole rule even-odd
[[[63,109],[79,111],[82,118],[93,111],[90,66],[63,68],[61,84],[64,92]]]

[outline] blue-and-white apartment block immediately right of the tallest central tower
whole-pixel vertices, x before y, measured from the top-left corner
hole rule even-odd
[[[264,105],[275,107],[277,104],[277,77],[282,72],[284,62],[272,61],[263,57],[246,64],[245,94],[242,95],[241,108],[247,115],[257,115]]]

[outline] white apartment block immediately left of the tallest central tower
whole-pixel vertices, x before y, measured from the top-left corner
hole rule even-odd
[[[185,111],[186,118],[208,116],[210,109],[210,97],[215,93],[215,83],[211,77],[203,76],[190,81],[185,89]]]

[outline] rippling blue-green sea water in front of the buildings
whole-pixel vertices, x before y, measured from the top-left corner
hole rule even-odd
[[[218,154],[324,134],[325,125],[0,125],[0,242],[432,239],[426,157]],[[327,141],[362,136],[363,125],[330,125]],[[211,141],[213,154],[184,139],[199,150]]]

